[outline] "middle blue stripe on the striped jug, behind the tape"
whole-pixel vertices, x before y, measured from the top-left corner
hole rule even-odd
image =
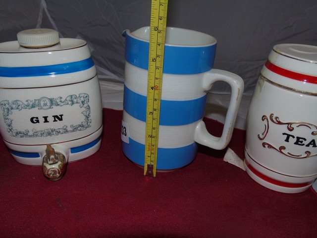
[[[186,101],[161,100],[160,125],[186,125],[202,119],[207,95]],[[146,121],[147,97],[124,86],[123,109],[132,117]]]

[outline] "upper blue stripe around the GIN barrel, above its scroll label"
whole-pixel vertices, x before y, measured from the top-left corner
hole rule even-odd
[[[61,63],[45,66],[29,67],[0,67],[0,77],[34,77],[49,76],[64,73],[74,73],[93,67],[94,61],[90,57],[77,62]]]

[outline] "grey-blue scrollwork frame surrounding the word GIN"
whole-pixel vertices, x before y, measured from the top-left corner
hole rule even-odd
[[[71,124],[68,128],[67,125],[63,125],[60,128],[47,128],[43,130],[32,129],[30,132],[28,129],[17,130],[13,128],[12,122],[13,119],[9,118],[9,115],[12,115],[14,110],[30,110],[38,108],[38,110],[50,110],[53,107],[62,107],[65,105],[73,106],[79,105],[84,111],[81,113],[84,115],[84,120],[77,125]],[[75,131],[85,130],[91,126],[91,112],[89,106],[89,95],[86,93],[80,93],[77,95],[69,95],[64,100],[62,97],[57,98],[47,98],[42,97],[40,99],[35,100],[26,100],[22,102],[20,100],[13,100],[9,102],[9,100],[3,100],[0,102],[1,111],[3,112],[4,123],[7,126],[7,131],[13,137],[47,137],[47,136],[55,136],[59,134],[71,133]]]

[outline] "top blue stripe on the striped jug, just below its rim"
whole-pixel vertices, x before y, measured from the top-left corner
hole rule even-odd
[[[139,67],[149,68],[149,42],[126,35],[125,59]],[[175,47],[165,45],[163,73],[195,74],[211,70],[216,44],[206,47]]]

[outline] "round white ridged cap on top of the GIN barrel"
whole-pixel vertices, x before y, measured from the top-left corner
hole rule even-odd
[[[27,48],[49,47],[59,43],[58,32],[52,29],[29,29],[17,34],[20,46]]]

